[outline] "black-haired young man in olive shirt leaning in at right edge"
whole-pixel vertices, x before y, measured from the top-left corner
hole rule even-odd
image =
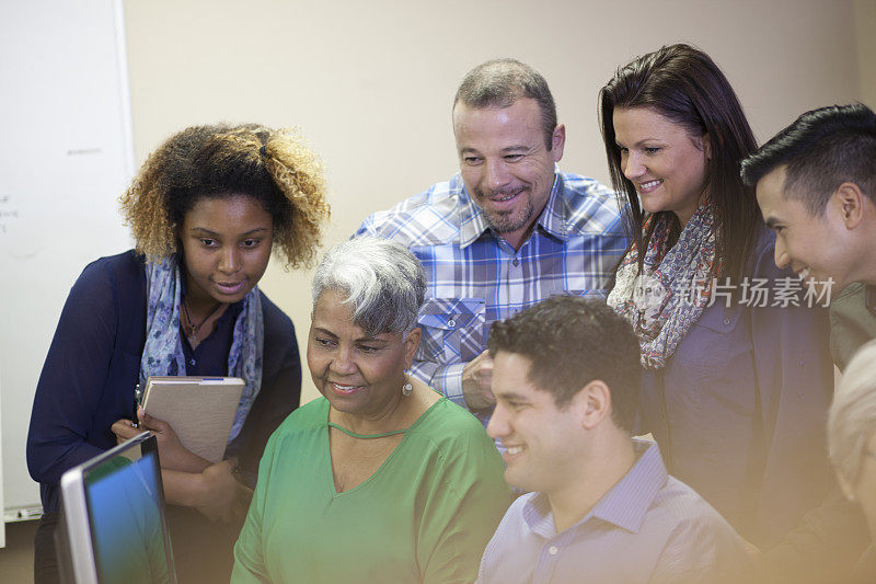
[[[876,114],[862,104],[807,112],[744,162],[742,179],[775,231],[775,263],[840,294],[831,351],[844,367],[876,336]]]

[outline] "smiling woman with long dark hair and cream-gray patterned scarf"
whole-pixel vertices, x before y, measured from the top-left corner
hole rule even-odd
[[[632,241],[608,302],[639,340],[642,431],[671,474],[770,546],[830,485],[814,456],[832,389],[827,313],[773,262],[739,178],[754,137],[707,55],[672,45],[633,60],[600,113]]]

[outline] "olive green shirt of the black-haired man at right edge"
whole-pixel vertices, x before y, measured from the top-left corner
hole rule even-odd
[[[868,308],[876,301],[874,288],[850,284],[830,302],[830,353],[840,370],[867,341],[876,339],[876,316]]]

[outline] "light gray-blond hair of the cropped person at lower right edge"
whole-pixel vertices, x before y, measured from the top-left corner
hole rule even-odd
[[[863,345],[843,371],[828,413],[828,453],[851,483],[861,473],[867,442],[876,432],[876,341]]]

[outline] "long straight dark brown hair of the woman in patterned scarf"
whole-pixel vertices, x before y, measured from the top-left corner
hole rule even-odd
[[[656,214],[643,232],[645,215],[633,183],[623,174],[621,150],[614,135],[614,111],[647,107],[683,127],[691,136],[708,136],[711,158],[705,181],[715,215],[718,261],[713,276],[744,276],[754,247],[760,211],[752,188],[739,179],[739,163],[757,148],[739,99],[715,61],[690,45],[660,47],[618,68],[599,92],[602,139],[614,190],[625,201],[631,244],[645,249],[658,221],[669,221],[673,238],[680,232],[672,211]],[[642,259],[639,254],[639,271]]]

